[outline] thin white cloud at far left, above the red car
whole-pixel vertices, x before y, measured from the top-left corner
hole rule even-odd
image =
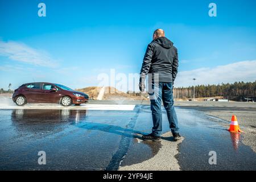
[[[52,59],[47,52],[14,41],[3,42],[0,40],[0,56],[42,67],[54,68],[57,65],[57,61]]]

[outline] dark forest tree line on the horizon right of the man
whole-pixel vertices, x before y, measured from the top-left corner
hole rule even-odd
[[[256,81],[234,82],[233,84],[196,85],[195,98],[199,97],[256,97]],[[174,88],[174,98],[193,98],[193,86]]]

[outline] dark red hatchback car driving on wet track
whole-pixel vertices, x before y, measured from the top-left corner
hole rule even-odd
[[[18,106],[27,103],[59,103],[63,106],[88,102],[88,95],[60,84],[33,82],[14,90],[13,101]]]

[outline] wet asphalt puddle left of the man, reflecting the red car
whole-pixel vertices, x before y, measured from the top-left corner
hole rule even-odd
[[[135,130],[140,109],[0,110],[0,168],[115,170],[122,162],[143,162],[161,146],[138,142],[144,134]],[[37,164],[40,150],[46,151],[46,166]]]

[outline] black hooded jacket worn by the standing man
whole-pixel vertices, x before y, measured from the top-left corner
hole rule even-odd
[[[174,82],[177,68],[177,48],[171,40],[160,37],[148,44],[141,68],[142,80],[147,73],[158,73],[159,82]]]

